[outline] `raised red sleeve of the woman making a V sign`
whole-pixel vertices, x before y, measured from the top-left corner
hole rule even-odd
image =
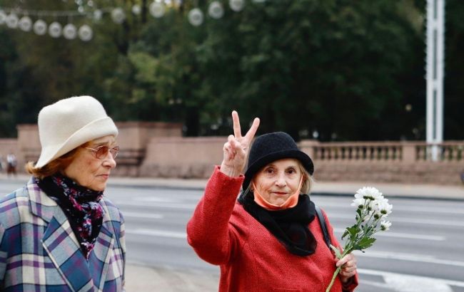
[[[228,177],[216,166],[188,221],[188,244],[210,264],[226,264],[239,246],[238,236],[229,219],[243,179],[243,175]]]

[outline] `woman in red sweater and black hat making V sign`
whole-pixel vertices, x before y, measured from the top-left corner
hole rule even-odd
[[[236,111],[234,135],[188,222],[188,243],[208,263],[221,266],[219,291],[331,291],[358,285],[356,259],[336,259],[326,245],[314,203],[308,196],[313,162],[284,132],[256,137],[243,175],[256,118],[241,136]],[[243,192],[237,200],[240,188]],[[323,215],[333,245],[340,244]]]

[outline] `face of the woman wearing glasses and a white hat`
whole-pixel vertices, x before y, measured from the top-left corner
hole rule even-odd
[[[99,146],[115,146],[113,135],[101,137],[92,140],[86,147],[96,148]],[[101,159],[96,158],[94,151],[79,147],[76,157],[68,167],[64,169],[64,175],[73,179],[82,187],[93,189],[94,191],[103,191],[106,188],[106,181],[109,178],[111,169],[116,167],[114,157],[108,152]]]

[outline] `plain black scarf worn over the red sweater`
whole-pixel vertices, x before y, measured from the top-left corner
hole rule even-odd
[[[300,194],[295,207],[278,211],[268,211],[256,204],[252,193],[242,192],[238,202],[276,236],[291,254],[309,256],[316,251],[316,239],[308,228],[315,217],[316,209],[307,194]]]

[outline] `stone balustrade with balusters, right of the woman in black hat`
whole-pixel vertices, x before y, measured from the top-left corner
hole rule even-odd
[[[315,164],[315,177],[333,181],[461,184],[464,141],[317,142],[301,150]]]

